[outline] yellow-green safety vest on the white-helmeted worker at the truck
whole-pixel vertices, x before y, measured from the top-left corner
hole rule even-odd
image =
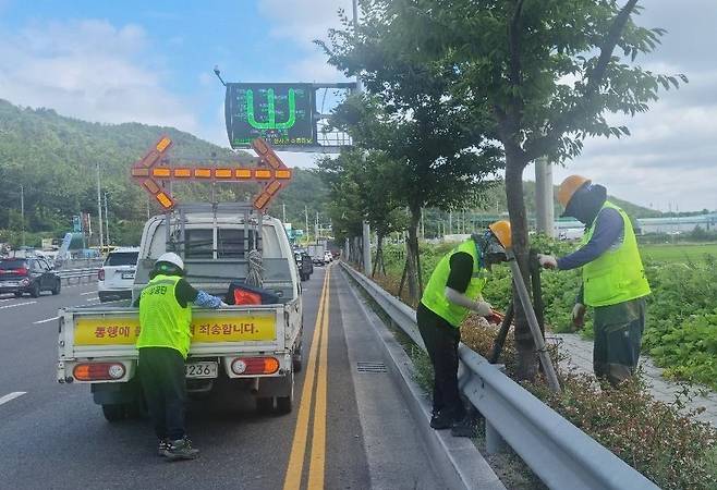
[[[190,351],[192,308],[182,308],[174,290],[181,278],[157,275],[142,290],[137,348],[170,347],[186,358]]]

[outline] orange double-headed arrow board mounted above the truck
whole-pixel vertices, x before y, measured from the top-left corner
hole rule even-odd
[[[262,161],[270,167],[268,169],[209,166],[156,167],[157,162],[167,161],[162,157],[171,145],[171,139],[163,136],[142,160],[132,167],[132,177],[167,210],[172,209],[177,203],[157,181],[262,182],[265,186],[254,199],[254,207],[264,210],[283,187],[282,182],[291,180],[291,169],[287,168],[264,139],[254,140],[253,146],[255,149],[258,148],[257,154]]]

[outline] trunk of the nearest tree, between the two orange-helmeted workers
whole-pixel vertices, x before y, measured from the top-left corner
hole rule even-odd
[[[512,230],[512,248],[515,260],[520,266],[525,287],[531,291],[528,282],[528,238],[527,217],[523,199],[523,169],[525,168],[521,155],[517,151],[506,151],[506,197],[508,199],[508,215]],[[513,287],[513,305],[515,309],[515,355],[518,364],[518,379],[533,380],[537,372],[537,356],[530,326],[523,310],[523,305]]]

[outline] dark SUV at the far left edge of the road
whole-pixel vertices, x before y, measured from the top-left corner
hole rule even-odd
[[[13,293],[16,297],[28,293],[38,297],[42,291],[60,294],[60,275],[42,257],[0,260],[0,293]]]

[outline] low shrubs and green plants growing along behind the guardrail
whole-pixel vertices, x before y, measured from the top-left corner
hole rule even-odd
[[[570,244],[544,237],[536,240],[536,243],[539,243],[542,249],[557,254],[566,253],[572,247]],[[451,247],[452,245],[449,244],[435,246],[422,244],[422,264],[426,277]],[[387,291],[397,294],[403,252],[398,245],[386,245],[385,254],[387,274],[377,274],[374,280]],[[712,272],[715,269],[713,266],[712,259],[708,258],[702,265],[680,262],[648,265],[647,271],[654,294],[648,316],[648,321],[652,321],[645,334],[645,350],[651,351],[653,358],[660,364],[673,363],[668,368],[668,373],[717,388],[714,381],[717,379],[716,373],[714,370],[709,371],[712,359],[717,353],[715,351],[717,344],[712,341],[712,351],[706,351],[705,342],[702,342],[710,338],[712,331],[717,330],[717,323],[708,323],[717,320],[717,313],[705,313],[709,310],[708,304],[717,304],[717,287],[713,291],[709,291],[709,287],[697,287],[702,281],[709,280],[703,274],[712,273],[713,282],[717,279],[715,278],[717,272]],[[571,331],[569,313],[580,285],[579,274],[544,272],[542,278],[546,322],[554,331]],[[665,282],[667,278],[670,278],[669,283]],[[510,298],[510,281],[507,267],[494,268],[490,282],[485,290],[486,298],[494,306],[505,308]],[[667,301],[668,297],[672,299]],[[411,303],[405,293],[402,299]],[[688,302],[692,302],[691,306]],[[676,304],[681,306],[676,307]],[[686,310],[695,311],[695,319],[688,316],[685,320],[682,315]],[[661,316],[669,319],[663,319]],[[656,321],[657,318],[660,321]],[[710,328],[712,331],[708,331]],[[495,326],[487,326],[478,318],[470,317],[461,332],[462,341],[467,346],[487,356],[493,348],[497,330]],[[590,321],[584,334],[592,334]],[[680,335],[678,341],[675,339],[677,335]],[[703,338],[697,339],[697,335]],[[511,331],[499,362],[506,365],[507,373],[514,377],[518,365],[512,339]],[[661,348],[666,345],[678,345],[678,351],[689,354],[679,356],[675,354],[673,348],[667,348],[665,354],[660,354],[660,347],[653,345],[659,345]],[[667,353],[671,353],[672,357]],[[564,358],[564,354],[560,352],[559,345],[551,346],[550,355],[554,364],[560,366],[559,362]],[[421,356],[415,353],[412,357],[418,362],[420,383],[429,389],[430,365],[422,362]],[[695,359],[701,362],[697,362],[698,367],[692,369]],[[702,376],[703,372],[705,376]],[[563,392],[558,395],[548,390],[542,377],[534,382],[523,381],[522,384],[660,488],[717,488],[717,431],[709,424],[697,421],[694,418],[696,412],[685,409],[685,403],[691,396],[688,385],[676,395],[673,402],[664,403],[655,400],[640,380],[615,390],[609,385],[598,384],[592,375],[576,373],[560,367],[558,375],[563,388]]]

